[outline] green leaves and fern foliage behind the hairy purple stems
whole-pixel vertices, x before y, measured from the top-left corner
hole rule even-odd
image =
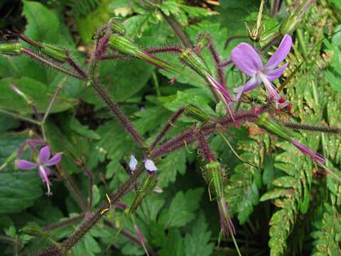
[[[65,46],[86,67],[94,31],[109,18],[121,17],[129,38],[144,48],[153,48],[180,45],[165,19],[173,16],[192,42],[198,34],[210,33],[220,57],[228,59],[237,43],[251,43],[245,23],[250,28],[255,26],[260,4],[255,0],[166,0],[157,1],[158,8],[151,8],[146,2],[0,1],[0,27],[5,37],[6,29],[16,27],[36,41]],[[293,109],[291,114],[281,114],[282,120],[341,126],[341,33],[320,41],[341,30],[340,3],[318,0],[293,34],[284,78],[305,58],[308,60],[286,86],[286,98]],[[278,31],[276,25],[295,4],[293,0],[266,1],[262,38]],[[269,39],[255,45],[264,46]],[[269,53],[274,49],[269,48]],[[178,63],[175,54],[158,56]],[[214,68],[210,55],[204,51],[203,56]],[[222,114],[205,85],[181,76],[170,85],[174,74],[140,60],[103,61],[98,73],[139,132],[151,138],[148,142],[176,110],[190,103],[212,115]],[[74,232],[86,214],[105,200],[106,193],[129,178],[119,161],[129,161],[138,148],[85,82],[26,57],[8,56],[0,56],[0,78],[0,251],[1,255],[29,254],[55,245]],[[245,78],[230,66],[227,81],[232,91]],[[11,83],[33,100],[40,113],[45,112],[55,90],[63,87],[44,124],[48,144],[53,151],[64,153],[51,176],[53,196],[45,195],[36,171],[15,167],[20,146],[41,130],[4,113],[33,117],[27,102],[9,87]],[[251,95],[259,102],[266,100],[260,92]],[[183,131],[189,122],[180,119],[167,136]],[[212,149],[226,167],[224,192],[242,255],[341,255],[340,183],[294,146],[255,124],[231,127],[226,136],[243,159],[259,166],[256,169],[243,164],[222,137],[210,137]],[[341,175],[340,135],[296,131],[296,137],[328,158],[328,167]],[[237,255],[232,239],[220,237],[217,206],[210,201],[196,148],[196,144],[189,145],[156,161],[158,187],[163,193],[148,196],[135,215],[152,255]],[[26,150],[21,158],[28,156]],[[91,171],[93,183],[84,166]],[[90,197],[92,203],[87,206]],[[129,193],[121,201],[129,205],[133,199],[134,193]],[[24,232],[24,227],[34,225],[44,232],[37,236]],[[114,238],[120,227],[122,233]],[[108,255],[145,254],[134,222],[119,208],[92,228],[72,252],[104,255],[110,243]]]

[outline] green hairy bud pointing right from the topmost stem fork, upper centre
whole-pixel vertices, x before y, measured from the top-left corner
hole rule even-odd
[[[142,50],[136,46],[131,40],[129,40],[129,38],[121,36],[117,33],[114,33],[112,36],[110,36],[109,46],[121,54],[145,60],[151,65],[155,65],[156,67],[162,68],[163,70],[178,72],[178,70],[173,68],[171,64],[166,63],[166,61],[160,60],[159,58],[147,53],[145,50]]]

